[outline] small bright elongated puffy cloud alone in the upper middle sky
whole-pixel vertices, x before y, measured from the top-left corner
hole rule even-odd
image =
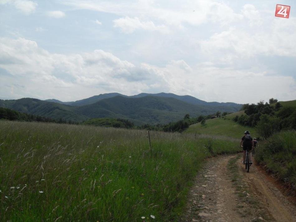
[[[140,21],[139,18],[119,18],[113,20],[114,27],[119,27],[124,33],[132,33],[136,29],[143,29],[148,31],[160,31],[167,32],[167,28],[164,25],[155,26],[152,21]]]

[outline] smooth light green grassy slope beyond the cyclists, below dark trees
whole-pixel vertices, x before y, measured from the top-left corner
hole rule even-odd
[[[200,123],[190,125],[184,133],[195,134],[209,134],[209,135],[222,135],[232,138],[241,138],[246,130],[251,132],[253,137],[257,137],[257,132],[254,128],[248,126],[241,126],[232,120],[236,115],[241,116],[244,111],[239,111],[226,115],[225,118],[214,118],[206,120],[206,126],[202,126]]]

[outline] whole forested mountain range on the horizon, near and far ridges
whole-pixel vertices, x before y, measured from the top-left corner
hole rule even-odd
[[[216,111],[236,112],[241,104],[232,102],[205,102],[192,96],[179,96],[173,93],[141,93],[126,96],[119,93],[106,93],[75,102],[61,102],[56,99],[39,100],[22,98],[0,100],[0,107],[50,117],[59,120],[81,122],[89,118],[114,117],[128,119],[136,125],[166,124],[180,120],[185,114],[195,117],[209,115]]]

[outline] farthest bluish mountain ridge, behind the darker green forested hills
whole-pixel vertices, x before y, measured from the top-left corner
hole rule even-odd
[[[130,98],[141,98],[141,97],[146,97],[146,96],[155,96],[155,97],[166,97],[166,98],[175,98],[178,100],[181,100],[183,102],[188,102],[190,104],[194,104],[194,105],[211,105],[211,106],[229,106],[229,107],[234,107],[235,109],[233,111],[238,111],[241,108],[241,104],[237,104],[234,102],[206,102],[200,99],[197,99],[193,96],[178,96],[174,93],[165,93],[165,92],[160,92],[160,93],[140,93],[138,95],[134,95],[134,96],[126,96],[126,95],[122,95],[120,93],[105,93],[105,94],[100,94],[98,96],[93,96],[93,97],[89,97],[87,99],[82,99],[82,100],[77,100],[75,102],[62,102],[56,99],[48,99],[45,100],[47,102],[57,102],[60,104],[66,104],[66,105],[71,105],[71,106],[84,106],[84,105],[89,105],[89,104],[93,104],[95,102],[99,102],[102,99],[106,99],[106,98],[112,98],[112,97],[116,97],[116,96],[122,96],[122,97],[130,97]]]

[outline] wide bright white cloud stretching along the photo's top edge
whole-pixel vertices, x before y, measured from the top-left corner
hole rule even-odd
[[[130,19],[140,18],[141,20],[155,22],[162,21],[165,25],[183,27],[184,23],[197,26],[208,21],[229,24],[242,15],[235,13],[231,7],[223,2],[212,0],[184,0],[156,2],[150,0],[143,1],[78,1],[68,0],[63,2],[65,5],[72,6],[74,9],[87,9],[98,12],[108,12],[119,16],[129,17]],[[125,21],[131,22],[131,21]],[[133,21],[138,23],[138,21]],[[131,25],[134,26],[134,25]],[[150,25],[148,25],[150,26]],[[127,31],[132,30],[127,28]]]

